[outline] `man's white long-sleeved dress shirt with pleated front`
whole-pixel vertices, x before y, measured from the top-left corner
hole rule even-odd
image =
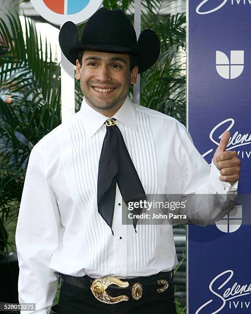
[[[193,146],[186,128],[133,104],[114,114],[146,194],[228,193]],[[122,224],[117,187],[113,231],[97,208],[99,157],[107,117],[83,100],[79,112],[44,136],[30,153],[19,219],[19,301],[49,313],[56,272],[93,278],[150,276],[172,270],[177,257],[170,225]],[[211,170],[210,170],[211,169]],[[26,313],[27,311],[23,312]]]

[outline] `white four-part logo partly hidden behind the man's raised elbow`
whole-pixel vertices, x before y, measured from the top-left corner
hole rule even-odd
[[[236,205],[225,217],[216,222],[217,228],[225,233],[237,231],[242,222],[242,206]]]

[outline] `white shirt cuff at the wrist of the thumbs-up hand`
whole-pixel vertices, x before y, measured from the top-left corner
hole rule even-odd
[[[210,170],[210,179],[209,184],[210,186],[218,193],[218,194],[228,194],[232,191],[237,191],[238,183],[237,181],[235,184],[231,185],[229,182],[223,182],[220,180],[220,171],[214,165],[213,161],[211,162],[211,170]]]

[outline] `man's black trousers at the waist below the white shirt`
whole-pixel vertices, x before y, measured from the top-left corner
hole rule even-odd
[[[69,285],[63,282],[60,290],[57,314],[177,314],[174,302],[173,285],[166,291],[144,295],[139,300],[122,301],[116,304],[105,304],[92,295],[91,290]]]

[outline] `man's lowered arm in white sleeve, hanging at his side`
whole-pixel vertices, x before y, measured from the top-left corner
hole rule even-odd
[[[50,312],[58,285],[58,275],[49,265],[58,246],[60,214],[45,173],[42,154],[34,147],[27,167],[15,242],[20,267],[19,302],[35,303],[35,313],[40,314]]]

